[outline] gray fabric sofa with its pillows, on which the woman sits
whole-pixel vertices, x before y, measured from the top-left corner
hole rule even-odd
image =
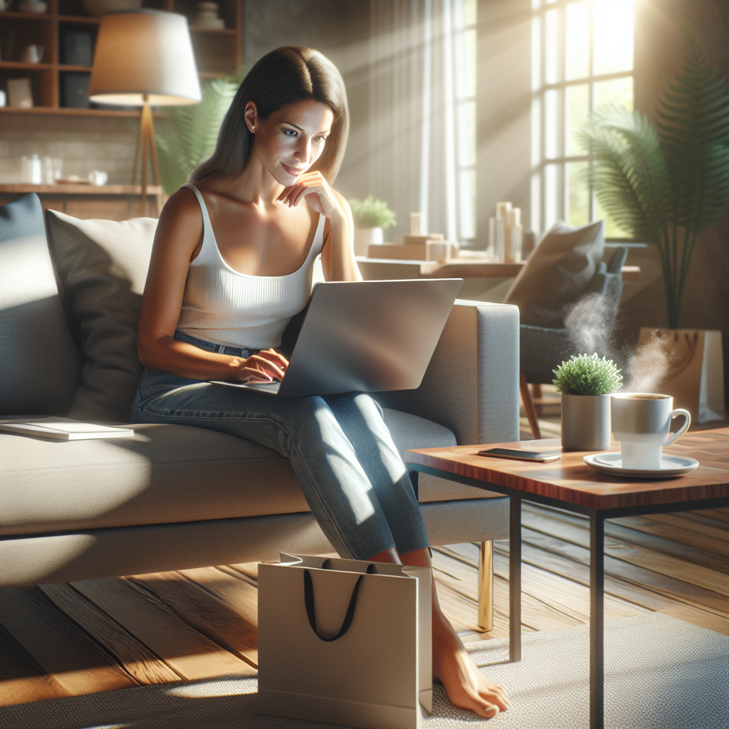
[[[0,418],[128,418],[155,225],[48,211],[47,237],[36,195],[0,207]],[[456,303],[421,387],[378,397],[400,450],[518,440],[518,338],[515,306]],[[133,428],[76,442],[0,434],[0,586],[332,551],[278,453]],[[419,499],[434,545],[508,537],[498,494],[421,477]]]

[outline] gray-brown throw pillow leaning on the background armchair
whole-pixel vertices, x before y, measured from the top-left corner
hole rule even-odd
[[[580,228],[556,223],[531,252],[504,303],[519,307],[521,324],[561,329],[565,309],[587,289],[604,247],[601,220]]]

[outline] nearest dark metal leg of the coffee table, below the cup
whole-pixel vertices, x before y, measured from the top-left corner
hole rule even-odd
[[[590,729],[605,725],[605,522],[590,515]]]

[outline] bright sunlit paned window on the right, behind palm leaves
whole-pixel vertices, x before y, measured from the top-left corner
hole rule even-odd
[[[532,0],[531,229],[605,219],[574,131],[604,104],[633,109],[634,0]]]

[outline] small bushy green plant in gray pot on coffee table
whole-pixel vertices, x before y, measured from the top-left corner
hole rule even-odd
[[[562,393],[562,449],[605,451],[610,447],[610,393],[623,382],[612,359],[574,354],[553,370]]]

